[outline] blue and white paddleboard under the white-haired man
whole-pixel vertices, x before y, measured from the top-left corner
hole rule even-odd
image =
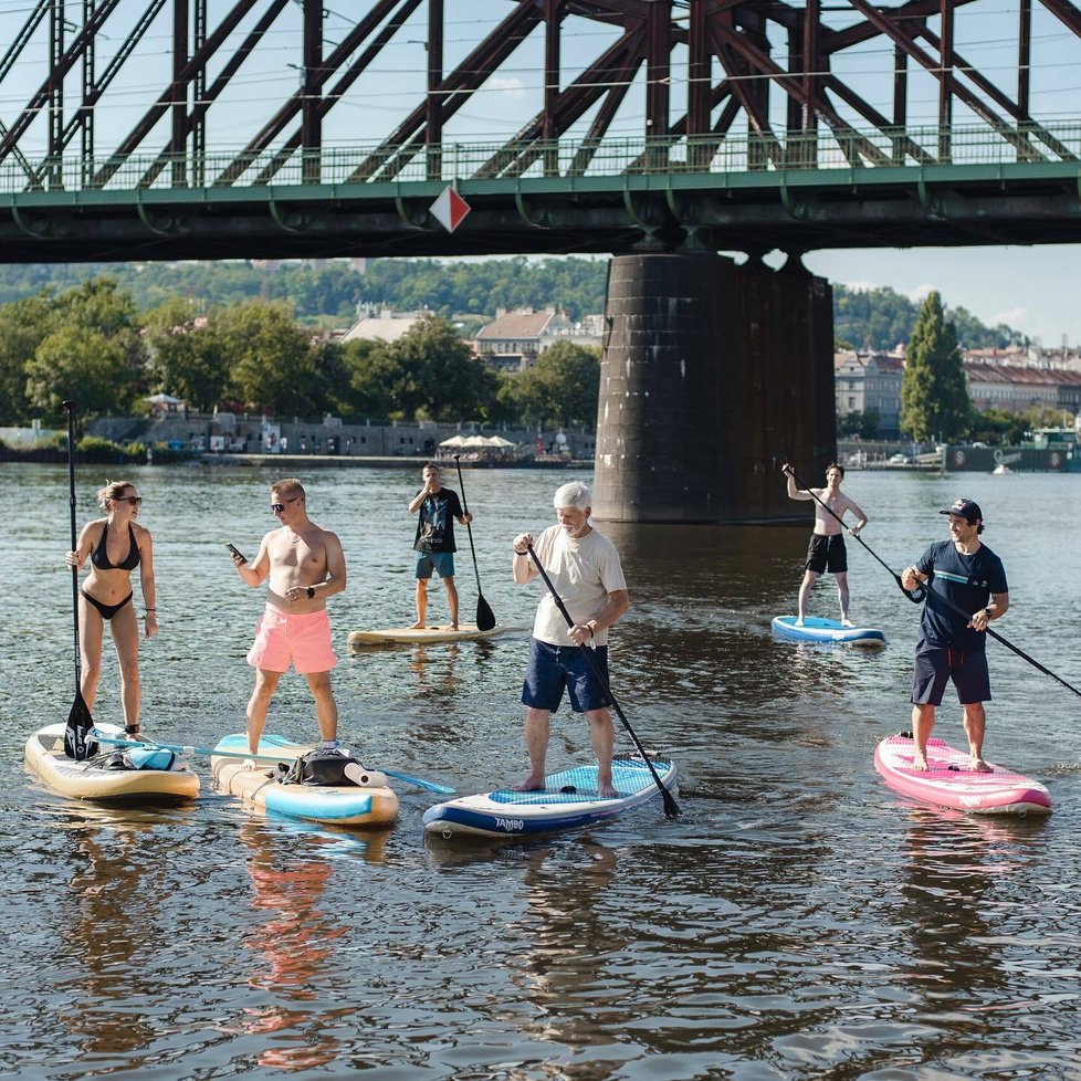
[[[651,760],[661,784],[674,793],[675,764],[668,759]],[[612,762],[612,784],[619,795],[601,797],[597,794],[596,763],[576,766],[548,774],[544,788],[538,791],[517,793],[501,788],[429,807],[424,811],[424,832],[444,838],[463,835],[524,837],[588,826],[661,797],[649,767],[641,758],[617,758]]]

